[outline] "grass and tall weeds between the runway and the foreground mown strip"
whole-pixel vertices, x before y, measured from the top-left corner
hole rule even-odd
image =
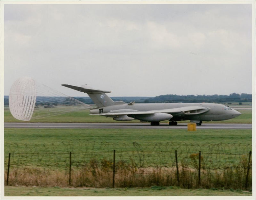
[[[177,185],[176,172],[173,170],[176,166],[174,152],[177,150],[181,177],[183,180],[189,180],[182,187],[197,188],[197,153],[201,151],[201,166],[204,170],[202,182],[205,182],[204,186],[202,184],[203,188],[219,188],[223,184],[225,189],[243,189],[248,154],[252,150],[251,130],[226,130],[223,133],[223,130],[188,132],[183,129],[6,128],[4,139],[5,169],[8,153],[11,153],[10,182],[12,185],[27,186],[32,184],[66,187],[69,152],[72,152],[73,186],[111,187],[115,149],[116,168],[119,170],[119,175],[116,176],[117,187]],[[61,174],[61,171],[64,174]],[[85,173],[87,178],[82,178],[80,172]],[[213,181],[216,173],[220,174],[218,177],[221,180],[226,177],[228,181],[218,186],[221,181]],[[167,174],[174,179],[166,180]],[[38,176],[42,179],[40,182]],[[133,178],[123,180],[123,177],[129,176]],[[239,182],[237,178],[243,181]],[[58,181],[56,183],[49,180]],[[104,181],[101,182],[102,180]],[[230,186],[231,182],[233,186]],[[235,186],[234,183],[239,185]]]

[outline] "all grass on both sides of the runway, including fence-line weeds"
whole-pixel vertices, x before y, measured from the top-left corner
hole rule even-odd
[[[216,123],[252,123],[251,110],[241,110],[240,112],[242,112],[243,115],[231,120]],[[5,108],[4,110],[4,121],[20,122],[12,117],[8,108]],[[139,122],[138,120],[134,120],[132,122],[136,121]],[[114,121],[112,118],[90,116],[89,111],[76,111],[58,116],[36,119],[32,120],[32,122],[117,121]],[[117,174],[116,176],[116,187],[118,188],[108,189],[112,184],[111,166],[113,164],[114,149],[116,150],[117,169],[120,168],[120,163],[123,164],[126,169],[124,169],[124,171],[119,170],[119,175]],[[176,166],[175,150],[178,152],[179,168],[185,169],[180,171],[181,179],[183,181],[183,185],[181,185],[181,187],[196,188],[195,184],[197,182],[197,173],[192,173],[193,170],[191,171],[191,169],[198,169],[197,153],[201,151],[203,158],[202,187],[212,189],[182,189],[177,187],[177,181],[175,180],[169,180],[169,183],[173,186],[164,186],[167,177],[166,175],[168,173],[171,175],[170,177],[175,178],[176,172],[172,172],[172,169]],[[52,181],[52,183],[47,183],[50,188],[5,186],[5,195],[250,196],[252,195],[252,192],[250,189],[244,191],[244,183],[240,185],[234,185],[233,183],[244,182],[242,180],[245,178],[245,169],[248,164],[248,153],[251,150],[252,130],[197,130],[196,132],[188,132],[187,130],[182,129],[129,130],[5,128],[5,177],[8,164],[8,154],[11,153],[11,177],[9,179],[9,183],[11,183],[11,185],[17,184],[29,186],[32,184],[40,186],[40,184],[44,185],[43,180],[47,180],[48,182]],[[68,184],[67,171],[69,168],[69,152],[72,152],[72,185],[76,188],[60,188],[67,187]],[[91,174],[89,174],[88,171],[84,171],[84,173],[87,174],[87,178],[89,177],[92,178],[94,182],[99,182],[97,187],[101,187],[101,189],[79,187],[79,184],[84,184],[84,186],[94,184],[93,181],[84,181],[81,174],[79,174],[80,170],[85,169],[91,170]],[[152,173],[152,170],[153,174],[150,175],[151,177],[148,177],[147,172],[150,171],[150,173]],[[64,174],[61,174],[62,171]],[[97,177],[95,176],[95,172],[98,174]],[[135,186],[135,188],[130,188],[134,187],[133,185],[136,185],[137,183],[134,184],[131,180],[130,182],[127,182],[126,180],[126,186],[124,186],[125,184],[121,182],[120,178],[120,173],[124,172],[126,173],[125,177],[128,178],[128,175],[132,175],[132,180],[137,183],[142,184],[143,181],[146,182],[150,180],[149,185],[148,183],[145,185],[154,185],[152,187],[147,186],[136,188],[138,186]],[[144,173],[143,180],[141,179],[142,174],[140,174],[141,177],[139,175],[139,173],[142,172]],[[208,172],[210,172],[210,174]],[[213,177],[216,173],[220,173],[218,176],[220,179],[218,180]],[[82,176],[84,175],[82,174]],[[27,181],[27,183],[22,183],[22,180],[18,180],[18,177],[21,177],[20,179]],[[42,177],[41,182],[38,177]],[[108,183],[106,184],[101,182],[102,178],[105,178],[105,182]],[[62,179],[65,183],[63,183]],[[190,181],[186,181],[185,179]],[[250,178],[249,184],[251,184],[251,179],[252,177]],[[59,182],[56,183],[56,181]],[[218,182],[222,182],[221,184],[224,185],[224,189],[221,189],[221,187],[218,186]],[[102,187],[100,184],[105,186]],[[232,184],[233,186],[231,186]]]

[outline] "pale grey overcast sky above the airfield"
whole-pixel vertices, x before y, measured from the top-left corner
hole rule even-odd
[[[4,95],[22,76],[69,96],[252,94],[252,4],[5,4]]]

